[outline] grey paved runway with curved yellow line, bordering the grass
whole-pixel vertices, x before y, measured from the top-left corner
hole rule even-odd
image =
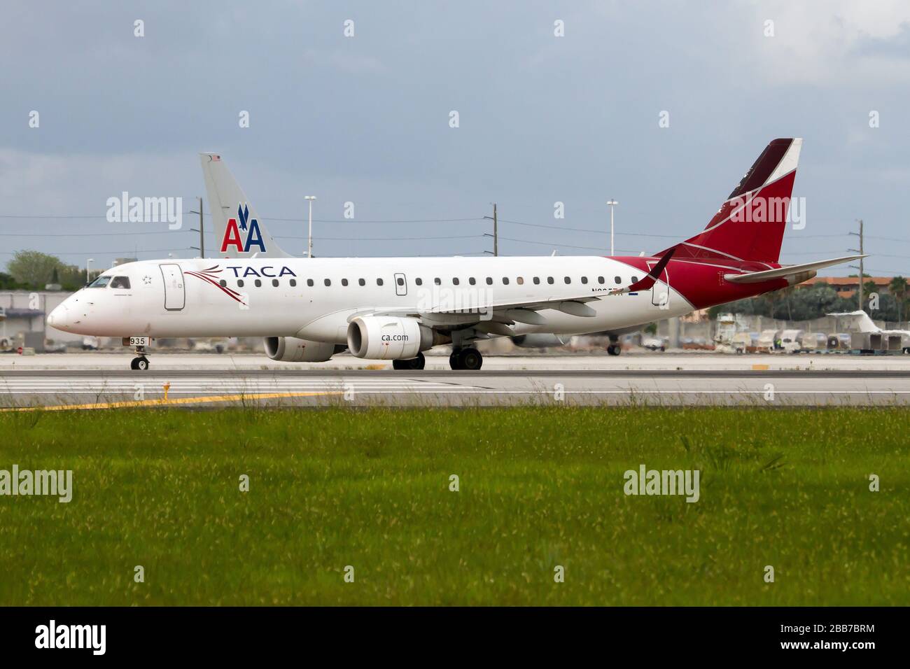
[[[910,370],[10,370],[9,410],[205,407],[905,406]]]

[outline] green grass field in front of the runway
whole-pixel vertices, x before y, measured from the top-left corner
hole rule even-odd
[[[71,469],[74,493],[0,497],[0,604],[907,604],[908,418],[2,414],[0,470]],[[701,499],[626,496],[642,463],[700,470]]]

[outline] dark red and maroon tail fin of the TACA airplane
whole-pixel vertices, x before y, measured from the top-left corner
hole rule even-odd
[[[682,242],[675,257],[776,263],[802,147],[802,139],[774,139],[707,227]]]

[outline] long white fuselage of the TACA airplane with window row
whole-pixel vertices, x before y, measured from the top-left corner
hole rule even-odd
[[[493,303],[602,297],[591,315],[541,309],[541,322],[515,322],[516,334],[584,334],[679,316],[703,305],[675,288],[714,280],[723,266],[671,262],[652,289],[609,295],[647,272],[655,258],[270,258],[147,260],[107,270],[105,287],[66,299],[49,323],[79,334],[128,337],[286,336],[343,344],[349,319],[396,310],[470,311]],[[720,268],[720,269],[713,269]],[[736,268],[727,268],[726,271]],[[693,276],[695,273],[698,276]],[[126,278],[126,281],[116,278]],[[118,288],[117,284],[129,288]],[[668,285],[669,284],[669,285]],[[779,288],[754,284],[757,294]],[[743,297],[715,286],[716,303]],[[735,294],[731,294],[731,290]],[[697,292],[697,291],[696,291]],[[702,299],[701,293],[698,293]],[[711,300],[712,302],[714,300]],[[451,313],[441,322],[451,323]],[[476,317],[465,316],[465,321]]]

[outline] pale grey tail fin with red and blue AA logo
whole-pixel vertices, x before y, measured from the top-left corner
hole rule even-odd
[[[247,196],[217,153],[200,153],[212,212],[218,255],[222,258],[291,258],[268,234]]]

